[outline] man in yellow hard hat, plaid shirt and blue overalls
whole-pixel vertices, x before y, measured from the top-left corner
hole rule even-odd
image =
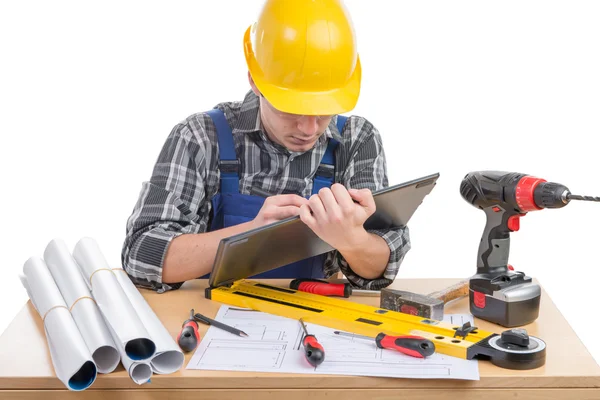
[[[210,273],[219,241],[299,215],[335,251],[259,277],[389,285],[406,227],[367,232],[372,191],[388,185],[377,129],[354,108],[361,81],[340,1],[268,0],[246,30],[251,90],[189,116],[168,136],[127,222],[122,262],[159,292]]]

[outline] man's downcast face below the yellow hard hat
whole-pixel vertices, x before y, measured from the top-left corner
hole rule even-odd
[[[267,135],[293,152],[310,150],[325,133],[331,115],[297,115],[277,110],[260,96],[260,114]]]

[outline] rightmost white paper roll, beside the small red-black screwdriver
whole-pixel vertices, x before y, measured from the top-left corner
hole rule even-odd
[[[157,374],[171,374],[178,371],[185,361],[183,352],[169,334],[169,331],[156,316],[138,288],[131,282],[123,268],[113,268],[119,284],[131,301],[133,308],[144,322],[150,337],[156,343],[156,353],[150,361],[152,371]]]

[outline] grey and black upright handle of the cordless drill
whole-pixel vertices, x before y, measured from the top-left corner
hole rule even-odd
[[[500,205],[484,208],[486,225],[477,252],[477,274],[499,274],[508,271],[510,252],[509,218],[519,215]]]

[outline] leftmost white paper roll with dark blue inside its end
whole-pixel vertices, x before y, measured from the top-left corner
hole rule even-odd
[[[87,389],[96,380],[96,363],[46,263],[29,258],[19,278],[42,318],[56,376],[69,390]]]

